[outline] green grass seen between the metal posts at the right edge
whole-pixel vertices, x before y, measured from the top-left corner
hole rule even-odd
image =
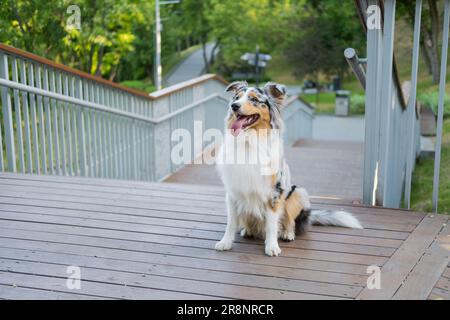
[[[419,160],[413,174],[411,208],[432,210],[434,158]],[[450,118],[444,120],[439,175],[439,213],[450,213]]]

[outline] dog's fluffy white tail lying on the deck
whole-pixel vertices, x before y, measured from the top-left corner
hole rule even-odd
[[[309,222],[320,226],[337,226],[362,229],[359,221],[349,212],[334,210],[311,210]]]

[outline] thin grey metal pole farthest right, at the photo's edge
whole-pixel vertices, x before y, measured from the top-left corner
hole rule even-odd
[[[450,0],[445,1],[444,30],[442,32],[441,74],[439,78],[439,104],[438,123],[436,132],[436,151],[434,154],[434,178],[433,178],[433,211],[437,213],[439,194],[439,167],[441,163],[442,125],[444,116],[445,76],[447,71],[448,28],[450,18]]]

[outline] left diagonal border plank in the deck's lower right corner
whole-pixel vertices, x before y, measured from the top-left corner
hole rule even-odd
[[[447,220],[447,216],[426,216],[381,268],[381,289],[366,287],[357,299],[392,298]]]

